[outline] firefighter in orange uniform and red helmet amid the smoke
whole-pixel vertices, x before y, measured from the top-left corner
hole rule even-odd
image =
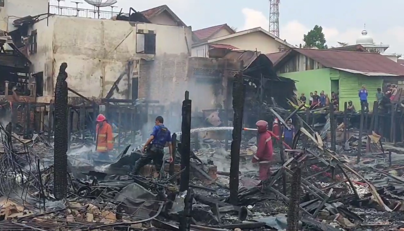
[[[114,149],[114,135],[112,135],[112,127],[107,123],[107,118],[103,114],[97,117],[97,127],[95,128],[97,137],[96,152],[99,158],[109,160],[109,152]]]

